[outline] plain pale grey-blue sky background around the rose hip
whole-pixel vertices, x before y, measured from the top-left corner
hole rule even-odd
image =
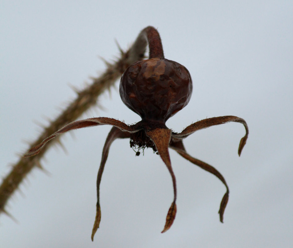
[[[167,122],[179,132],[206,117],[237,115],[250,128],[241,157],[241,124],[188,137],[187,151],[216,167],[230,187],[224,224],[217,214],[225,187],[170,152],[177,216],[161,234],[173,199],[159,156],[135,157],[129,141],[113,143],[101,184],[102,220],[90,240],[95,181],[109,126],[63,136],[9,202],[18,220],[0,216],[0,247],[292,247],[292,1],[5,1],[0,4],[0,175],[17,161],[75,93],[140,30],[160,32],[165,57],[188,68],[190,103]],[[118,88],[118,82],[117,82]],[[83,117],[134,123],[139,116],[112,89]],[[73,138],[72,138],[73,136]],[[24,197],[23,197],[24,195]]]

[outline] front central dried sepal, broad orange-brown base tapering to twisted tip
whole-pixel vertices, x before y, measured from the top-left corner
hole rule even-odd
[[[176,197],[177,197],[176,178],[171,167],[171,161],[170,161],[169,150],[168,150],[170,139],[171,139],[171,130],[166,128],[156,128],[154,130],[147,131],[146,135],[150,137],[150,139],[154,142],[155,147],[158,153],[160,154],[161,159],[164,161],[164,163],[166,164],[171,174],[172,182],[173,182],[174,200],[167,214],[166,224],[165,224],[164,230],[162,231],[162,233],[164,233],[173,224],[173,221],[176,215],[176,209],[177,209],[176,203],[175,203]]]

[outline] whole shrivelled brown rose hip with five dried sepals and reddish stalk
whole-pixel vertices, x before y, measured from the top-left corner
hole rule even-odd
[[[191,163],[214,174],[225,185],[226,193],[222,198],[219,209],[220,221],[223,222],[224,211],[229,198],[228,185],[221,173],[214,167],[191,157],[186,152],[183,139],[203,128],[227,122],[239,122],[244,125],[246,130],[246,134],[240,140],[238,148],[238,154],[240,156],[248,137],[248,126],[245,120],[233,115],[197,121],[187,126],[181,133],[175,133],[167,128],[165,125],[166,120],[185,107],[189,102],[192,93],[192,80],[188,70],[183,65],[164,58],[160,35],[154,27],[149,26],[141,31],[133,45],[133,49],[137,50],[139,46],[146,46],[146,42],[149,44],[149,59],[138,61],[129,66],[122,75],[119,89],[122,101],[127,107],[142,117],[141,121],[133,125],[127,125],[124,122],[107,117],[74,121],[59,129],[57,132],[52,133],[42,143],[32,147],[24,155],[24,157],[30,157],[38,154],[48,141],[73,129],[99,125],[113,126],[105,141],[97,176],[96,218],[92,230],[92,240],[94,240],[94,234],[99,228],[101,221],[100,183],[109,149],[114,140],[118,138],[130,138],[130,147],[132,148],[134,147],[138,150],[152,148],[154,152],[160,155],[167,166],[172,177],[174,198],[166,216],[166,223],[162,231],[164,233],[173,224],[177,211],[176,178],[171,166],[168,148],[172,148]],[[136,151],[137,156],[140,154],[138,150]]]

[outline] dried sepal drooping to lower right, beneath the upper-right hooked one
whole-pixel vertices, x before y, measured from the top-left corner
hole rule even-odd
[[[183,158],[187,159],[191,163],[199,166],[200,168],[204,169],[207,172],[212,173],[215,175],[217,178],[221,180],[221,182],[226,186],[226,193],[224,194],[221,204],[220,204],[220,209],[219,209],[219,215],[220,215],[220,221],[223,222],[224,218],[224,211],[225,207],[228,203],[229,199],[229,187],[225,181],[225,178],[222,176],[222,174],[214,167],[209,165],[208,163],[205,163],[199,159],[196,159],[194,157],[191,157],[184,149],[183,142],[181,140],[173,140],[170,144],[170,148],[174,149],[177,151],[178,154],[180,154]]]

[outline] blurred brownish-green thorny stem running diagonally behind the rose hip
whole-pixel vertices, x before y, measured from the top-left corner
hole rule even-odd
[[[55,133],[66,124],[76,120],[90,107],[94,106],[98,97],[106,89],[109,89],[114,85],[115,81],[122,75],[129,65],[144,58],[145,50],[146,41],[142,40],[141,35],[138,36],[133,46],[131,46],[127,52],[123,52],[120,49],[120,59],[113,64],[108,64],[108,68],[101,76],[93,78],[93,83],[91,85],[84,90],[77,92],[77,98],[44,129],[40,136],[31,144],[30,148],[41,143],[46,137]],[[36,156],[28,158],[21,157],[19,161],[13,165],[12,170],[3,178],[2,184],[0,185],[0,214],[7,213],[4,207],[15,189],[18,188],[25,176],[34,167],[40,164],[39,160],[43,157],[48,148],[56,142],[58,142],[58,139],[48,142]]]

